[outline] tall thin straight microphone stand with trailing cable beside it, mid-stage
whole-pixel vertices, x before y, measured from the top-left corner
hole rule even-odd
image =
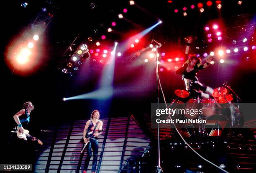
[[[152,41],[154,45],[154,42]],[[153,46],[154,47],[154,46]],[[158,46],[156,44],[156,92],[157,92],[157,109],[159,109],[159,71],[158,71],[158,57],[157,57],[157,49]],[[159,123],[157,123],[157,143],[158,143],[158,165],[156,166],[156,173],[163,173],[161,168],[161,161],[160,161],[160,132],[159,132]]]

